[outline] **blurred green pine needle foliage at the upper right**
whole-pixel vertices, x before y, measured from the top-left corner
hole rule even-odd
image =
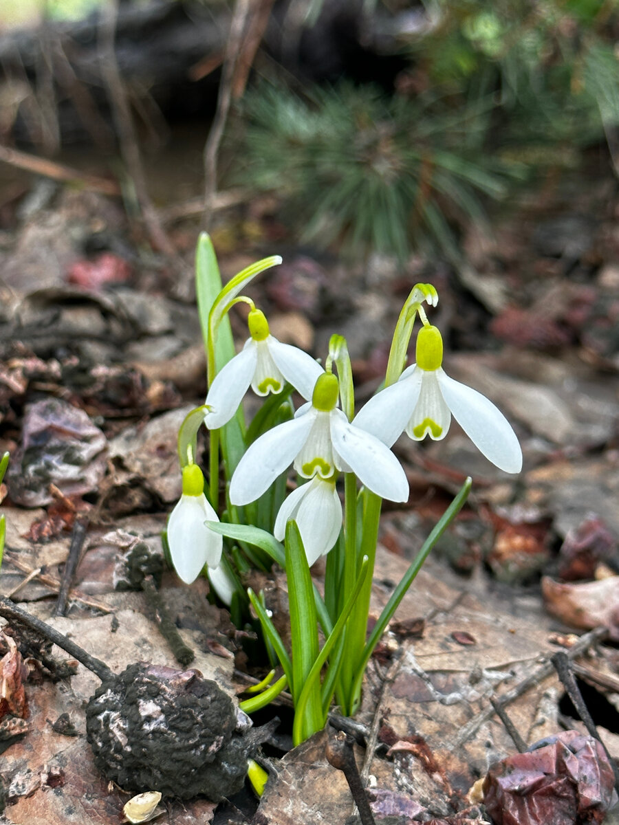
[[[235,181],[286,196],[305,240],[453,259],[489,200],[600,141],[619,161],[616,0],[375,3],[379,31],[380,12],[392,88],[267,78],[240,108]]]

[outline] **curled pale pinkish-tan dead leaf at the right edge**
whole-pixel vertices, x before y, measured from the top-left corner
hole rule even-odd
[[[546,610],[566,625],[584,629],[604,625],[611,639],[619,640],[619,576],[575,584],[545,576],[541,593]]]

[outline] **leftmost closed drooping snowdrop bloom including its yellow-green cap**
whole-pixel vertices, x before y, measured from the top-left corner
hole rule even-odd
[[[208,564],[218,568],[224,537],[209,530],[206,521],[219,521],[204,494],[204,476],[197,464],[182,469],[182,496],[168,519],[172,564],[182,581],[191,584]]]

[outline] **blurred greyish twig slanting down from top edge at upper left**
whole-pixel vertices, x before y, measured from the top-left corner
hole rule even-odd
[[[144,165],[139,153],[138,138],[131,117],[131,110],[125,87],[120,78],[120,69],[116,60],[114,41],[116,37],[116,18],[118,16],[118,0],[107,0],[102,6],[99,18],[99,45],[101,48],[101,72],[110,97],[112,114],[118,133],[120,154],[127,167],[140,209],[144,216],[144,224],[148,230],[153,246],[166,255],[174,257],[172,243],[159,222],[157,210],[150,200]]]

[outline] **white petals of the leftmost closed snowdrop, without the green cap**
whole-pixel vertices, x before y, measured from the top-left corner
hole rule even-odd
[[[204,502],[202,498],[204,496],[182,496],[168,520],[172,564],[186,584],[195,581],[209,559],[216,559],[219,564],[221,558],[223,536],[205,526],[206,519],[212,519],[212,516],[204,507],[206,498]]]

